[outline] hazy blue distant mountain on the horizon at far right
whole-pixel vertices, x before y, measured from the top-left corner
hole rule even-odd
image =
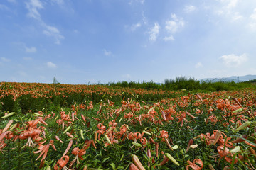
[[[218,82],[218,81],[235,81],[236,83],[242,82],[242,81],[249,81],[252,79],[256,79],[256,75],[246,75],[246,76],[232,76],[232,77],[222,77],[222,78],[206,78],[206,79],[200,79],[200,81],[212,81],[212,82]]]

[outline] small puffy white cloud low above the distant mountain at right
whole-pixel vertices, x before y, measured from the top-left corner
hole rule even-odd
[[[238,67],[240,66],[242,63],[247,62],[248,57],[247,54],[242,54],[240,56],[238,55],[223,55],[219,57],[220,60],[223,61],[223,64],[225,64],[225,66],[227,67]]]

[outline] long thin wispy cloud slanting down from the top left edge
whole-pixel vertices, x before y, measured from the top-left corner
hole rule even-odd
[[[61,1],[56,0],[57,3],[61,3]],[[43,8],[43,4],[39,0],[30,0],[26,3],[26,8],[28,8],[28,17],[34,18],[41,23],[41,26],[45,30],[43,33],[49,37],[53,37],[55,39],[55,44],[60,44],[60,40],[63,40],[65,37],[60,34],[58,28],[53,26],[48,26],[42,19],[41,15],[38,12],[39,9]]]

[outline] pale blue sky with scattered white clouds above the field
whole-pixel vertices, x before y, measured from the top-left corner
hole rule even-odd
[[[0,81],[256,74],[255,0],[1,0]]]

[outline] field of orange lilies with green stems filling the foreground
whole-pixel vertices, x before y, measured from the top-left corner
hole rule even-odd
[[[256,169],[256,91],[0,83],[0,169]]]

